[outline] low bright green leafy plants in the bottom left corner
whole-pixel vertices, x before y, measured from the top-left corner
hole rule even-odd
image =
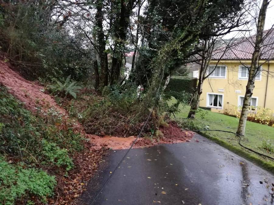
[[[0,158],[0,201],[6,205],[28,194],[44,198],[53,194],[56,181],[39,169],[24,169]]]

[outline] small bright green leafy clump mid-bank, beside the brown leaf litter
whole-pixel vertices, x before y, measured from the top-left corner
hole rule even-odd
[[[60,149],[55,143],[42,140],[43,155],[48,161],[54,165],[60,167],[65,166],[66,170],[70,170],[73,167],[72,159],[68,157],[68,151],[66,149]]]

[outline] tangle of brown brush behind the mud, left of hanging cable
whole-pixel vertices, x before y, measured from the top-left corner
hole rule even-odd
[[[102,94],[84,90],[65,103],[70,117],[78,118],[87,134],[128,137],[138,135],[149,110],[140,110],[137,89],[105,87]],[[147,125],[146,131],[150,125]]]

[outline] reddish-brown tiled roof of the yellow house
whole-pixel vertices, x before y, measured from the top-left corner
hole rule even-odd
[[[265,30],[264,36],[260,59],[274,59],[274,29]],[[221,47],[215,51],[212,60],[251,60],[255,39],[256,35],[253,35],[249,38],[236,40],[227,50],[225,50],[226,46]]]

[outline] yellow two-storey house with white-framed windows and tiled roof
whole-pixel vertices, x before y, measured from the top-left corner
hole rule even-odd
[[[274,43],[274,30],[272,31],[265,44]],[[243,104],[253,50],[251,41],[246,40],[226,51],[219,62],[218,56],[210,61],[208,73],[217,66],[204,81],[199,107],[210,108],[213,112],[235,114],[237,107]],[[256,76],[251,106],[274,110],[274,60],[269,60],[273,59],[273,54],[274,49],[266,49],[261,54],[260,72]]]

